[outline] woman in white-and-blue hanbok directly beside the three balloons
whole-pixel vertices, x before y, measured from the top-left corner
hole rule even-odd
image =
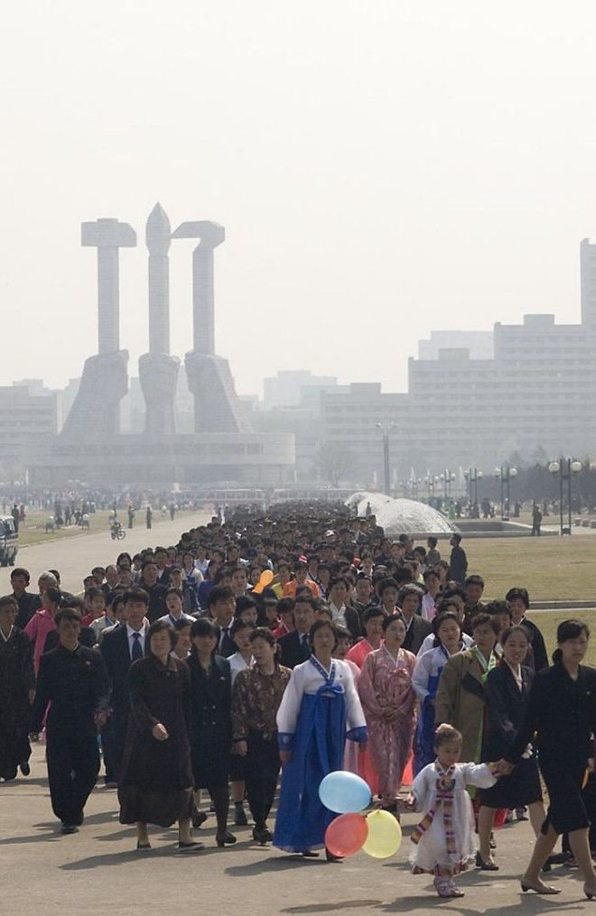
[[[320,801],[319,785],[342,769],[347,737],[366,742],[366,720],[348,663],[331,658],[336,627],[317,620],[309,640],[313,654],[292,671],[277,714],[283,771],[273,845],[317,856],[337,817]]]

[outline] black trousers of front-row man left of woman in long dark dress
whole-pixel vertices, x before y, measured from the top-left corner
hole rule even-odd
[[[52,811],[62,823],[83,823],[83,808],[99,772],[97,736],[50,732],[46,758]]]

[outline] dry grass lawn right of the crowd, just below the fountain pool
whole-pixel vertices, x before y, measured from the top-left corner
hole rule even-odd
[[[439,544],[439,549],[441,545]],[[530,600],[581,601],[596,606],[596,536],[466,539],[468,572],[480,573],[487,598],[502,598],[513,585]],[[448,553],[445,552],[448,559]]]

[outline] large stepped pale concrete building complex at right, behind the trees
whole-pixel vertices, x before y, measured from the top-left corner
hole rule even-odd
[[[351,479],[382,479],[377,422],[394,424],[397,479],[412,469],[421,479],[467,466],[491,473],[512,453],[529,459],[539,448],[553,458],[596,456],[596,245],[587,239],[580,271],[579,324],[547,314],[497,322],[490,348],[484,333],[436,332],[408,362],[407,394],[350,386],[323,396],[321,439],[345,443]]]

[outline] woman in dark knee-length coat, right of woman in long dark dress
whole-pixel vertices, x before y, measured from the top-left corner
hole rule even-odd
[[[232,747],[232,679],[227,659],[215,655],[219,627],[204,617],[191,627],[191,754],[195,789],[207,789],[215,808],[218,846],[236,843],[227,830]]]

